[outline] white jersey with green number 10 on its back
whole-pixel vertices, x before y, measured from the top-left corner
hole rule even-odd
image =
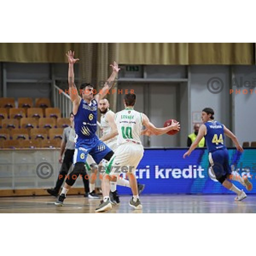
[[[141,144],[142,113],[126,108],[116,113],[115,122],[118,130],[117,145]]]

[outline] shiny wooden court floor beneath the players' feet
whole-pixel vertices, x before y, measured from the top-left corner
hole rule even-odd
[[[256,195],[234,201],[234,195],[142,195],[143,210],[128,205],[130,196],[120,197],[121,203],[110,213],[255,213]],[[93,213],[99,200],[83,196],[67,196],[63,207],[56,207],[54,197],[0,198],[0,213]]]

